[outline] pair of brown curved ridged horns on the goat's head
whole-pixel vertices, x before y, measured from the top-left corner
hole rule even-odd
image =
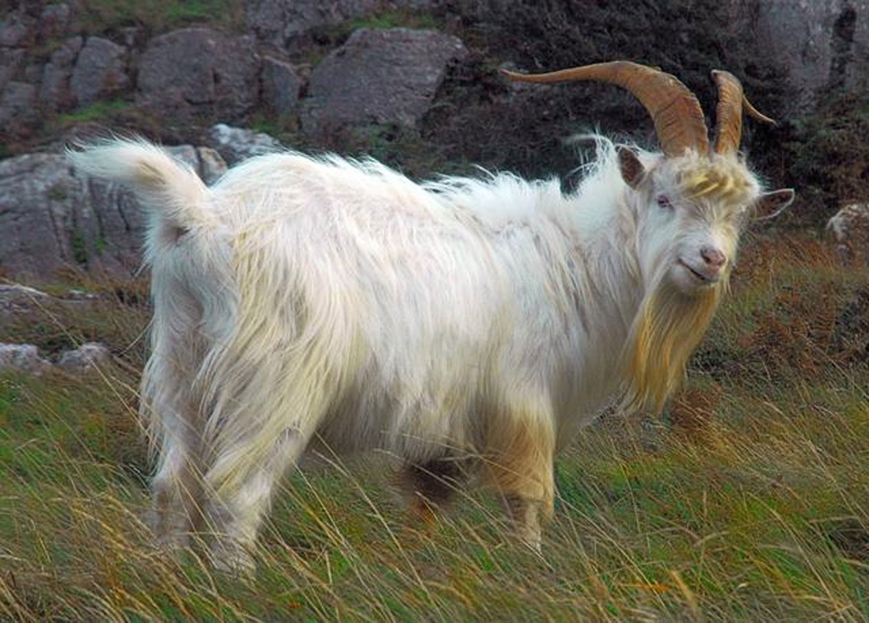
[[[517,74],[504,70],[513,80],[526,83],[563,83],[573,80],[600,80],[627,89],[640,100],[652,116],[660,147],[667,156],[681,156],[686,149],[700,154],[709,151],[709,137],[703,109],[697,97],[677,78],[664,71],[631,63],[613,61],[574,67],[545,74]],[[773,122],[748,103],[740,81],[726,71],[714,71],[718,84],[717,140],[715,151],[735,153],[740,147],[742,107],[761,121]]]

